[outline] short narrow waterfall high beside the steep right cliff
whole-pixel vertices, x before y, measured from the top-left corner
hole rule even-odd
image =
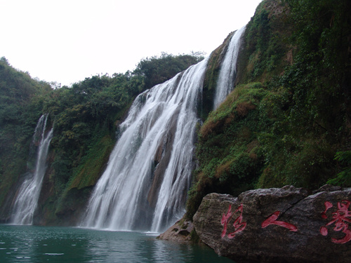
[[[241,46],[241,36],[245,32],[245,27],[237,30],[230,40],[225,58],[220,67],[220,74],[218,76],[216,95],[214,100],[214,109],[217,109],[225,97],[234,88],[234,81],[237,75],[237,58]]]

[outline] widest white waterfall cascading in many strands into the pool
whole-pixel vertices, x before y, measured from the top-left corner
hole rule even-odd
[[[185,213],[207,59],[138,95],[81,227],[162,231]]]

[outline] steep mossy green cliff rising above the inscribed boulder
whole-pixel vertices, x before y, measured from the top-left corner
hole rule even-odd
[[[187,217],[211,192],[351,186],[347,10],[350,1],[260,3],[246,26],[237,86],[199,129]]]

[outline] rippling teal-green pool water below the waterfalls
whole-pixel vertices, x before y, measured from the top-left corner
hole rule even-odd
[[[206,245],[157,234],[74,227],[0,225],[0,262],[232,262]]]

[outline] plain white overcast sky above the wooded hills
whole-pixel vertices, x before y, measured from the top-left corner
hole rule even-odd
[[[0,0],[0,57],[62,85],[124,73],[162,51],[211,51],[261,0]]]

